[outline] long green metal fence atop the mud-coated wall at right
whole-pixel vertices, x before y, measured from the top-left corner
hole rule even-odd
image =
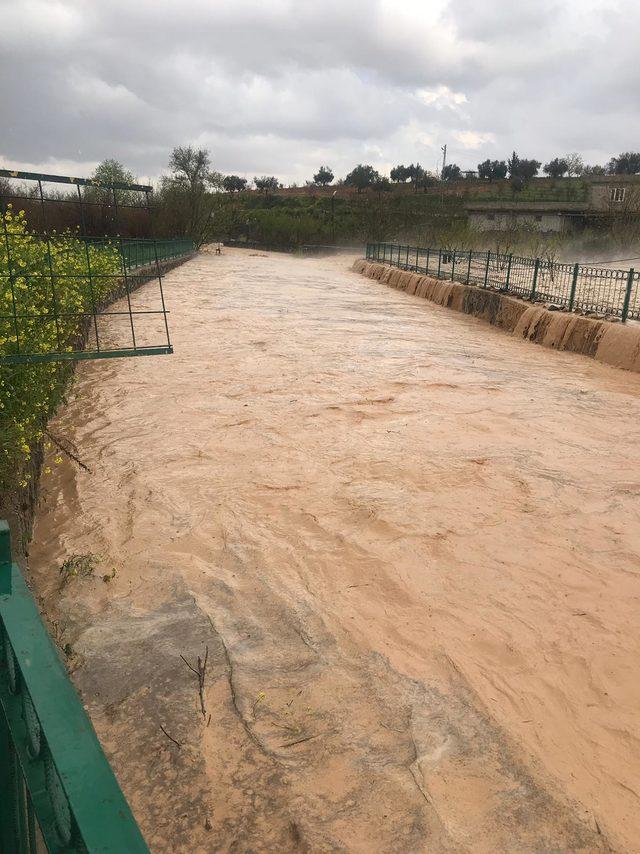
[[[368,243],[368,261],[479,285],[568,311],[640,319],[640,273],[495,252]]]

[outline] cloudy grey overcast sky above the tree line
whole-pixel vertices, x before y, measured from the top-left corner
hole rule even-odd
[[[640,148],[638,0],[0,0],[0,165],[309,179]]]

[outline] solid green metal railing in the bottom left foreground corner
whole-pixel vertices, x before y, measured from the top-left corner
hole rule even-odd
[[[148,852],[0,521],[0,852]]]

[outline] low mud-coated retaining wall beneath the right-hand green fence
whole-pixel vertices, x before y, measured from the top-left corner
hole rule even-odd
[[[640,325],[623,326],[549,311],[475,285],[442,281],[364,259],[356,261],[353,269],[392,288],[488,320],[493,326],[544,347],[582,353],[616,368],[640,371]]]

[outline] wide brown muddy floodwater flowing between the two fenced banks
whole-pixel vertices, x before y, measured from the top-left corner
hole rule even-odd
[[[150,847],[640,851],[640,377],[352,261],[201,253],[51,425],[34,587]]]

